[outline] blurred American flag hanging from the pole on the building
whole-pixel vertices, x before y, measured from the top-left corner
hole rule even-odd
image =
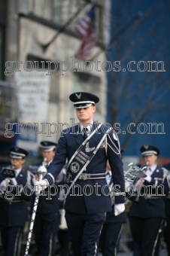
[[[82,38],[80,48],[74,55],[76,59],[85,59],[87,56],[90,56],[96,43],[96,33],[94,30],[95,7],[96,5],[94,4],[75,26],[75,30]]]

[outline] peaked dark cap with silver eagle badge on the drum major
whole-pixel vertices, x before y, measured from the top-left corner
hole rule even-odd
[[[69,99],[73,102],[74,108],[87,108],[90,105],[95,105],[99,102],[98,96],[86,92],[72,93],[69,96]]]

